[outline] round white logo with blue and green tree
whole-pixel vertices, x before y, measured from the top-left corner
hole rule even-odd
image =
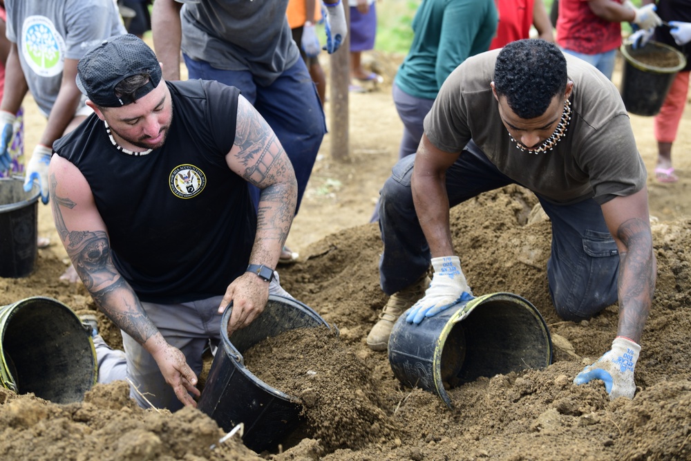
[[[64,68],[65,41],[45,16],[29,16],[21,28],[21,54],[39,77],[55,77]]]

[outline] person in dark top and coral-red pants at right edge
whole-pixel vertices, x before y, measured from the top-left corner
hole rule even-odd
[[[655,1],[643,0],[643,3],[652,4]],[[672,143],[676,140],[689,89],[691,0],[659,0],[656,7],[660,18],[666,21],[666,24],[654,29],[638,30],[629,37],[629,40],[634,48],[640,48],[645,46],[650,39],[654,39],[676,48],[686,57],[686,66],[676,73],[660,113],[655,115],[653,120],[658,151],[655,178],[659,182],[676,182],[679,178],[674,174],[674,167],[672,167]]]

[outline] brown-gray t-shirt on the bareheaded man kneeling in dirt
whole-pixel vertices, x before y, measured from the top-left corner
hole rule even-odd
[[[499,51],[466,59],[442,85],[424,121],[425,134],[438,149],[458,153],[472,138],[502,173],[553,203],[594,198],[602,205],[643,189],[645,165],[616,86],[569,55],[574,91],[565,137],[551,151],[520,151],[490,87]]]

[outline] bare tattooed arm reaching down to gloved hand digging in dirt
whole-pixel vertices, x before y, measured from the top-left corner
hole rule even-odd
[[[650,234],[647,188],[602,206],[619,250],[617,336],[640,343],[655,291],[657,267]]]

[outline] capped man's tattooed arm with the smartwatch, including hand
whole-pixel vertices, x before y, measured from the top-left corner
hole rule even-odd
[[[226,162],[231,170],[261,189],[249,263],[276,267],[295,214],[297,181],[281,142],[243,96],[238,100],[235,143]],[[229,333],[249,325],[262,312],[268,297],[268,283],[256,274],[245,272],[234,280],[219,306],[219,312],[223,312],[233,302]]]

